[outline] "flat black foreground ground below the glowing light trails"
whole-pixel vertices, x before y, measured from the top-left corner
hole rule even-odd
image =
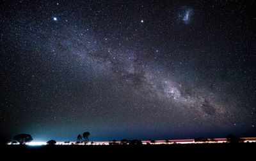
[[[1,156],[10,158],[255,158],[256,143],[220,143],[220,144],[161,144],[161,145],[53,145],[20,146],[9,145],[1,149]],[[206,158],[205,158],[206,159]]]

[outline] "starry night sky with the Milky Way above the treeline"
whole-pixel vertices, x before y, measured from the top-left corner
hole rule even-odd
[[[0,133],[256,136],[253,1],[1,1]]]

